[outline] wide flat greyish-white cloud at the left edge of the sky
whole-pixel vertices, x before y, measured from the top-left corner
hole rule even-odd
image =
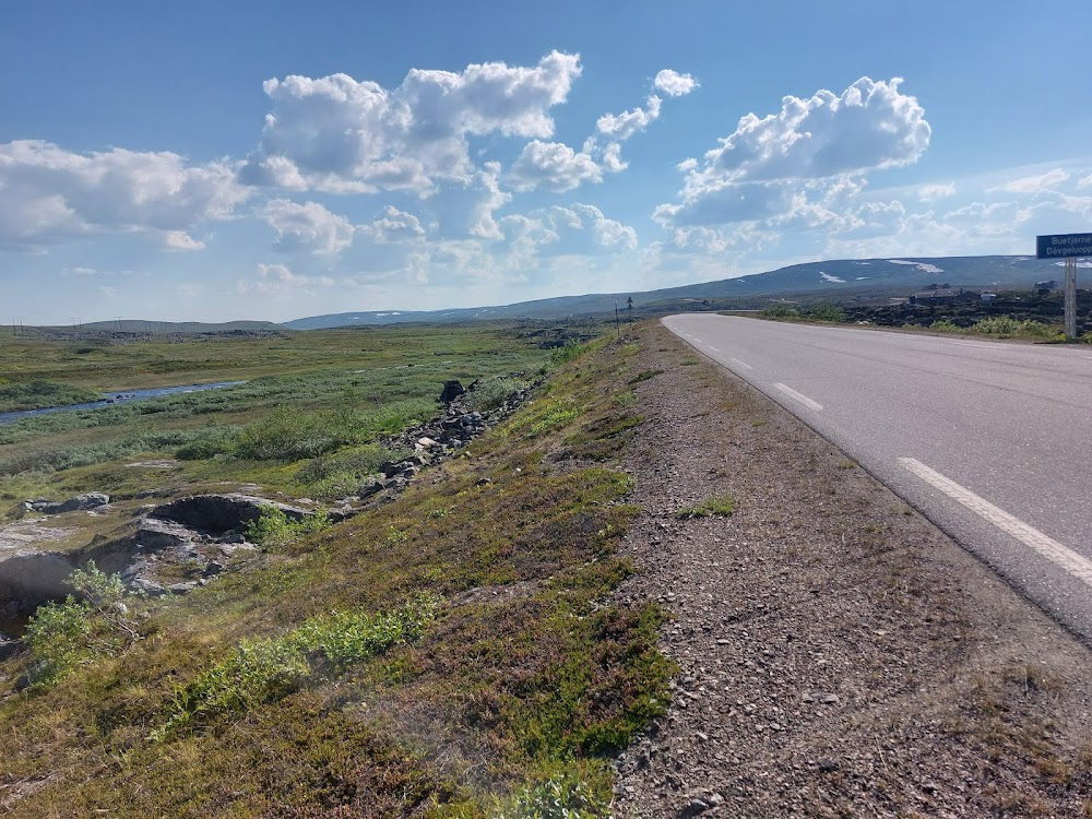
[[[0,144],[0,246],[34,248],[109,230],[150,233],[164,247],[203,245],[188,230],[223,219],[248,195],[223,163],[114,149],[78,154],[39,140]]]

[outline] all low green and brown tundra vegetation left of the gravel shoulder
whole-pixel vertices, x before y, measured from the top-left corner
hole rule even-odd
[[[0,816],[604,816],[609,755],[673,672],[657,607],[612,596],[636,571],[616,554],[634,352],[482,324],[0,342],[12,383],[246,381],[0,426],[8,519],[87,490],[116,514],[245,484],[331,502],[444,380],[482,379],[487,408],[546,378],[388,502],[268,513],[259,555],[190,594],[134,597],[88,565],[0,664]],[[105,515],[84,517],[90,541]]]

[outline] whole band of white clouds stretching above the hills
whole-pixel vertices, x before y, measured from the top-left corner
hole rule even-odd
[[[702,87],[665,68],[634,97],[589,98],[574,91],[584,71],[578,55],[551,51],[525,66],[414,68],[392,87],[343,73],[271,79],[264,124],[256,115],[239,143],[253,150],[204,164],[0,144],[0,250],[60,256],[138,235],[153,254],[142,270],[157,270],[159,250],[213,262],[182,295],[226,287],[287,304],[428,284],[465,299],[482,283],[492,301],[505,287],[526,297],[517,285],[539,287],[533,296],[629,286],[634,270],[661,286],[800,258],[1022,252],[1024,236],[1092,218],[1080,195],[1092,168],[1079,161],[911,179],[934,135],[898,79],[774,97],[711,127],[734,110],[723,81],[702,76]],[[902,187],[877,189],[895,168]],[[640,178],[627,183],[627,170]],[[254,258],[256,246],[273,258]],[[92,276],[75,271],[130,265],[73,251],[56,270],[79,289]]]

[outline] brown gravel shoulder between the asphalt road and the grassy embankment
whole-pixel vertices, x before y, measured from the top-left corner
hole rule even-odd
[[[615,815],[1092,816],[1088,649],[768,399],[641,341],[621,594],[661,602],[680,673]]]

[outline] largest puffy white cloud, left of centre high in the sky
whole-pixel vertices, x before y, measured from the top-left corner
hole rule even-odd
[[[388,91],[345,74],[265,82],[273,112],[242,178],[289,189],[430,191],[468,182],[470,135],[547,138],[580,58],[554,51],[533,68],[502,62],[464,71],[412,70]]]

